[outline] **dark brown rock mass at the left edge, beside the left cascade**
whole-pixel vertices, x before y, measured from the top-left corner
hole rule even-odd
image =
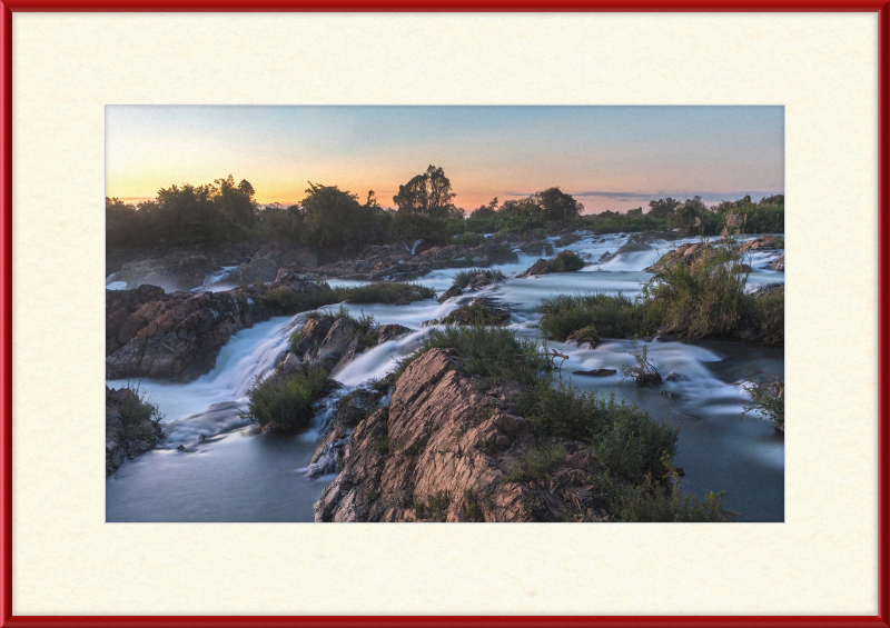
[[[241,290],[159,292],[158,287],[106,291],[106,377],[177,378],[208,372],[229,337],[265,317]]]

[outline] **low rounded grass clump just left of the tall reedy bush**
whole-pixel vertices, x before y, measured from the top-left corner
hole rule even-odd
[[[563,341],[573,331],[593,326],[600,336],[624,338],[641,332],[642,318],[633,301],[619,292],[617,296],[557,295],[543,299],[537,306],[541,330],[548,338]]]

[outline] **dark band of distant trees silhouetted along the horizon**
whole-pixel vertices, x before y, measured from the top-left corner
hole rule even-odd
[[[121,248],[206,248],[234,241],[286,241],[344,255],[374,245],[478,246],[484,235],[512,230],[542,239],[560,229],[594,233],[678,230],[684,236],[720,233],[728,221],[741,221],[748,233],[784,231],[784,197],[752,201],[744,197],[705,207],[699,197],[681,202],[657,199],[626,213],[583,216],[584,206],[557,187],[524,199],[493,199],[472,212],[454,205],[455,192],[441,167],[429,166],[398,187],[395,209],[380,207],[373,190],[358,195],[337,186],[308,183],[298,205],[261,207],[247,181],[231,175],[212,183],[170,186],[154,200],[137,205],[106,199],[106,242]],[[550,246],[545,243],[544,246]],[[536,255],[536,253],[533,253]],[[548,253],[550,255],[550,253]]]

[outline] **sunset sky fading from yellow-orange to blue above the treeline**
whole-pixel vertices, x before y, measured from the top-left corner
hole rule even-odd
[[[784,193],[782,107],[106,107],[106,196],[247,179],[260,203],[307,181],[392,207],[398,186],[442,167],[457,207],[558,187],[584,212]]]

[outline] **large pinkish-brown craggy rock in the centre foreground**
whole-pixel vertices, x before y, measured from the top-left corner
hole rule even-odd
[[[398,380],[388,408],[362,420],[343,449],[343,470],[315,505],[316,521],[614,520],[587,485],[603,469],[577,441],[547,477],[504,481],[511,461],[541,447],[508,412],[517,385],[482,392],[432,349]]]

